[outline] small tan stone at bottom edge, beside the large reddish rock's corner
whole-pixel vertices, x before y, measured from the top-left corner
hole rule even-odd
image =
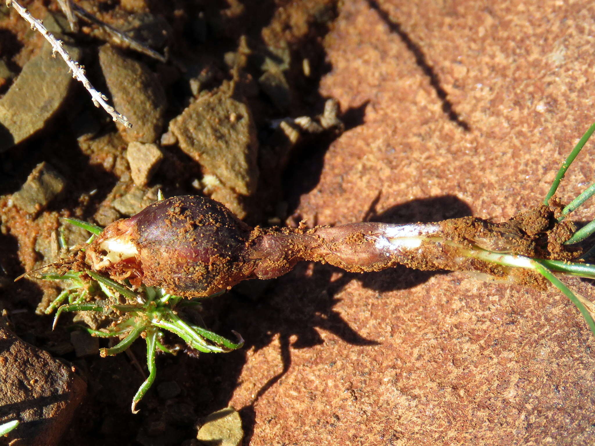
[[[205,445],[238,446],[244,438],[242,419],[233,407],[218,410],[206,417],[196,439]]]

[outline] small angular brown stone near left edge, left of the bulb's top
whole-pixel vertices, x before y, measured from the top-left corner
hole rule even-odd
[[[62,175],[44,161],[33,169],[21,189],[12,194],[12,202],[23,211],[39,212],[64,190],[65,184]]]

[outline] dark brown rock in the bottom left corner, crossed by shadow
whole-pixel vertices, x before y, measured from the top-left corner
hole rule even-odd
[[[0,424],[20,425],[4,440],[12,446],[58,444],[86,394],[73,368],[22,341],[0,318]]]

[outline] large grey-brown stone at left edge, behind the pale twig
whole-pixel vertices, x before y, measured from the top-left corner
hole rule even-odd
[[[80,49],[64,45],[73,59]],[[0,152],[43,128],[60,108],[72,83],[68,67],[45,43],[27,62],[8,92],[0,99]]]

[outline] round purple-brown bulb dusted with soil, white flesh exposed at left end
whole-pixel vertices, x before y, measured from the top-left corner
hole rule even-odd
[[[251,275],[250,229],[214,200],[173,197],[109,225],[87,249],[86,262],[133,285],[209,296]]]

